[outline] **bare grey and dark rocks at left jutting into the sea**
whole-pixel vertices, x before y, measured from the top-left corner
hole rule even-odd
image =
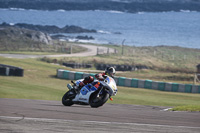
[[[96,30],[88,30],[78,26],[65,26],[63,28],[59,28],[57,26],[42,26],[42,25],[33,25],[33,24],[24,24],[24,23],[17,23],[14,25],[10,25],[7,23],[0,24],[0,27],[6,28],[6,30],[2,31],[5,34],[12,36],[14,38],[25,38],[30,39],[37,42],[42,42],[45,44],[52,44],[53,39],[65,39],[68,40],[69,38],[81,39],[81,40],[94,40],[92,36],[77,36],[77,37],[70,37],[65,36],[59,33],[91,33],[96,32]],[[12,31],[12,32],[11,32]],[[17,34],[20,33],[20,34]],[[52,34],[51,37],[48,34]],[[19,37],[20,35],[20,37]]]

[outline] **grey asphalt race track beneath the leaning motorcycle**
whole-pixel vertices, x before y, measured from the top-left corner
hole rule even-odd
[[[199,133],[199,112],[166,107],[105,104],[100,108],[61,101],[0,99],[1,133]]]

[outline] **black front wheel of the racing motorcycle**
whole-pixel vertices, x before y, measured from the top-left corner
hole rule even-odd
[[[107,92],[103,92],[99,94],[99,91],[94,92],[89,100],[89,104],[92,108],[98,108],[102,106],[109,98],[109,94]]]

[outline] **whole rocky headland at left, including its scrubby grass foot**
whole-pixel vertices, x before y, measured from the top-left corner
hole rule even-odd
[[[81,33],[96,32],[78,26],[42,26],[18,23],[9,25],[0,24],[0,51],[31,51],[31,52],[53,52],[70,53],[71,44],[59,41],[64,35],[52,35],[51,33]],[[82,39],[93,39],[88,36],[78,36]],[[78,39],[77,37],[77,39]],[[72,52],[85,51],[85,48],[74,46]],[[47,53],[49,54],[49,53]]]

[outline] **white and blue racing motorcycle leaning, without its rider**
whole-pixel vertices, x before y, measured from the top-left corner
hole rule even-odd
[[[79,83],[83,81],[73,81],[72,85],[67,84],[68,91],[62,97],[62,104],[65,106],[71,106],[73,104],[90,105],[93,108],[102,106],[111,96],[117,94],[116,82],[112,77],[106,76],[105,80],[94,80],[83,86],[80,90],[77,90]]]

